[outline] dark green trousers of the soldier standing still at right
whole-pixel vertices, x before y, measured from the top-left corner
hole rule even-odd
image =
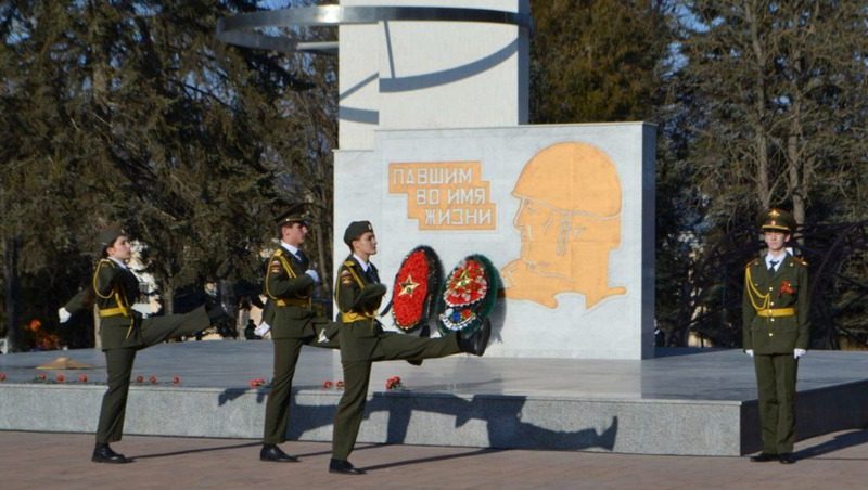
[[[763,452],[784,454],[795,443],[795,378],[799,361],[792,353],[756,354],[756,385]]]

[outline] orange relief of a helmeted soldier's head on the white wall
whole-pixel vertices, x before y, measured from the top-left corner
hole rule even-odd
[[[609,254],[621,245],[621,182],[612,159],[587,143],[558,143],[522,170],[512,195],[521,232],[519,259],[500,271],[510,299],[556,308],[556,295],[579,293],[586,308],[623,295],[609,286]]]

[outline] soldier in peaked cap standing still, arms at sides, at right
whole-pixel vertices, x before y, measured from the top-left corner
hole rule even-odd
[[[795,230],[789,212],[771,209],[762,219],[765,257],[744,271],[743,343],[754,359],[763,452],[751,461],[795,463],[795,379],[809,340],[807,263],[787,250]]]

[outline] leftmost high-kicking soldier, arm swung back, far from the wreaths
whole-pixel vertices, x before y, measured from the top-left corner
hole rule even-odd
[[[143,319],[132,309],[139,296],[139,279],[127,268],[131,246],[120,228],[112,227],[98,236],[102,259],[93,271],[92,285],[81,291],[58,311],[61,323],[80,310],[97,304],[100,315],[100,338],[108,371],[108,390],[102,399],[97,428],[95,463],[129,463],[108,447],[119,441],[124,431],[129,378],[136,352],[173,337],[192,335],[210,325],[205,307],[186,314],[167,314]]]

